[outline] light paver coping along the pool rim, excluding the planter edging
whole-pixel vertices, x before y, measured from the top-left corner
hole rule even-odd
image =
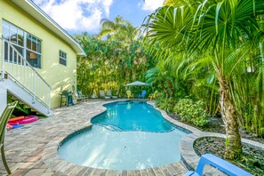
[[[103,105],[113,103],[116,101],[120,101],[120,100],[111,100],[109,102],[105,102],[101,104],[100,110],[94,116],[99,116],[100,114],[104,113],[107,110],[107,108],[103,107]],[[121,101],[127,101],[127,100],[121,100]],[[147,103],[149,105],[152,105],[154,108],[156,108],[152,102],[147,102]],[[168,116],[164,110],[161,110],[159,108],[156,108],[156,109],[160,111],[161,114],[164,116],[164,118],[168,120],[169,122],[171,122],[172,124],[176,124],[191,132],[200,132],[194,127],[188,126],[187,124],[182,124],[172,119],[172,117]],[[90,175],[99,175],[101,173],[106,173],[106,174],[108,173],[109,175],[119,175],[119,174],[129,175],[130,173],[137,173],[137,172],[138,173],[141,172],[142,175],[144,175],[144,173],[148,173],[150,175],[156,175],[156,173],[158,174],[160,172],[168,173],[166,175],[173,175],[175,172],[178,172],[178,174],[183,174],[188,171],[188,169],[180,162],[172,163],[172,164],[165,164],[165,165],[161,165],[158,167],[152,167],[152,168],[142,169],[142,170],[132,170],[132,171],[125,171],[125,170],[119,171],[118,170],[116,171],[116,170],[99,169],[99,168],[93,168],[93,167],[83,166],[79,164],[73,164],[61,158],[58,154],[58,148],[60,148],[61,142],[67,140],[68,137],[71,135],[76,135],[76,133],[82,130],[86,130],[87,128],[92,128],[91,120],[92,118],[89,119],[89,122],[80,124],[78,129],[68,131],[67,134],[62,134],[62,135],[59,134],[56,138],[54,138],[52,141],[46,144],[44,146],[44,151],[42,153],[42,159],[43,159],[44,164],[47,165],[52,171],[55,171],[61,174],[66,174],[66,175],[68,174],[75,175],[77,173],[78,175],[80,175],[80,173],[82,173],[83,175],[87,175],[88,173]]]

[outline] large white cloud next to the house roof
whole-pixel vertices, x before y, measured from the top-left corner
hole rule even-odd
[[[96,31],[102,16],[108,18],[113,0],[34,0],[62,28]]]

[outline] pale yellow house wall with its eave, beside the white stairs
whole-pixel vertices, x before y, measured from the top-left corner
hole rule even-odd
[[[51,107],[60,106],[60,92],[65,89],[71,90],[72,85],[76,86],[76,52],[51,30],[9,0],[0,0],[0,36],[2,36],[2,20],[7,20],[42,40],[41,68],[36,70],[52,86]],[[67,53],[67,66],[60,64],[60,50]],[[2,43],[0,63],[2,63]]]

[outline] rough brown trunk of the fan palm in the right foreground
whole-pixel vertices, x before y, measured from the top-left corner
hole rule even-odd
[[[236,108],[231,98],[227,80],[221,72],[218,74],[218,80],[220,83],[220,113],[225,124],[227,134],[225,158],[233,160],[242,153]]]

